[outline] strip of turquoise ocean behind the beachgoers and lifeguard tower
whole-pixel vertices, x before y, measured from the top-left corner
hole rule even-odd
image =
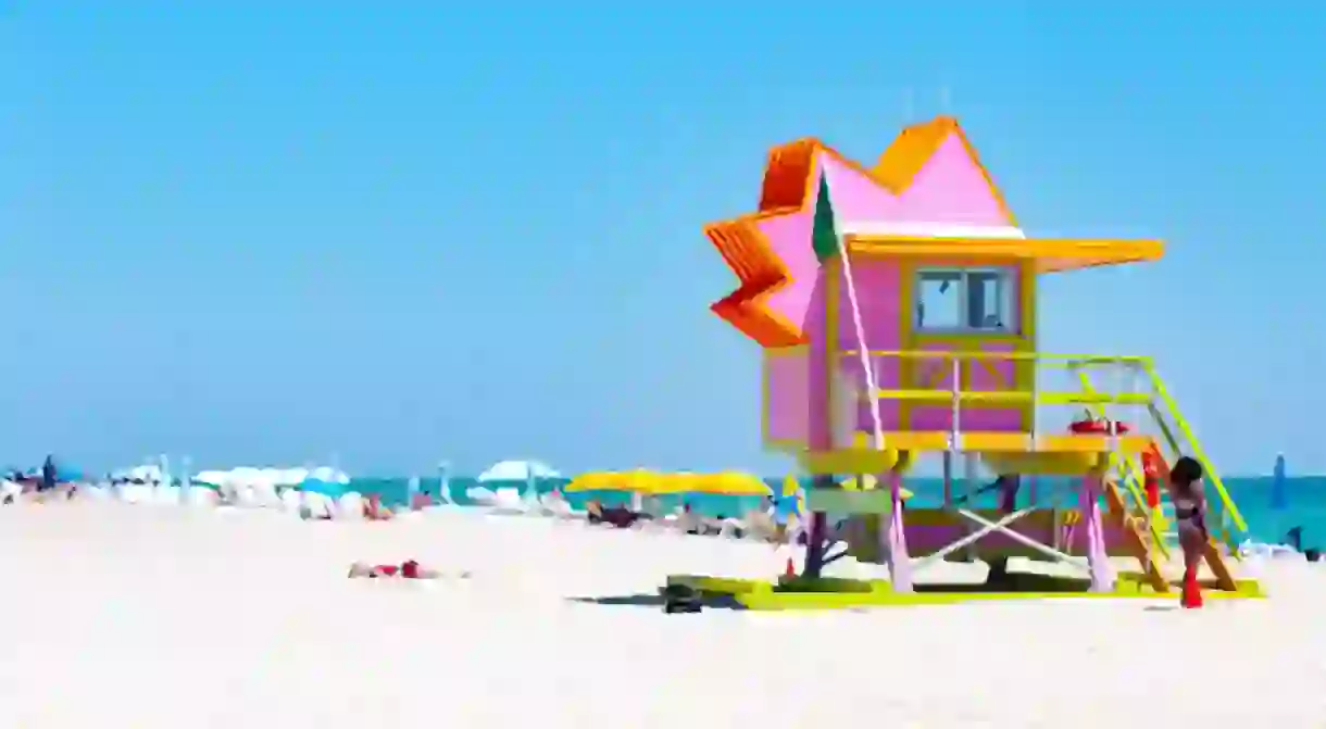
[[[399,506],[408,501],[408,478],[354,478],[350,488],[365,494],[377,493],[383,504]],[[782,478],[768,478],[766,482],[770,489],[781,492]],[[1270,476],[1227,477],[1224,480],[1225,488],[1248,522],[1246,537],[1258,542],[1284,543],[1286,533],[1301,526],[1305,547],[1326,547],[1326,476],[1289,478],[1285,489],[1288,506],[1284,509],[1272,508],[1272,482]],[[565,484],[566,480],[545,478],[538,482],[537,488],[540,493],[548,493]],[[465,498],[465,490],[480,484],[475,478],[452,477],[448,485],[452,498],[460,505],[467,505],[469,501]],[[525,488],[524,481],[483,485],[487,488]],[[937,506],[943,502],[944,484],[941,478],[911,477],[906,480],[904,485],[915,493],[910,501],[915,506]],[[423,493],[438,494],[438,478],[420,478],[420,489]],[[1022,504],[1029,498],[1026,492],[1028,489],[1024,488]],[[607,505],[630,501],[629,494],[614,492],[573,493],[568,494],[568,498],[575,506],[583,505],[590,498],[597,498]],[[686,497],[659,497],[656,508],[670,510],[679,506],[683,498],[695,512],[711,517],[737,517],[760,506],[758,497],[688,494]],[[1037,504],[1049,505],[1058,500],[1061,504],[1073,505],[1075,498],[1073,484],[1066,480],[1040,478],[1037,481]],[[993,494],[979,496],[972,500],[972,504],[977,508],[996,506]]]

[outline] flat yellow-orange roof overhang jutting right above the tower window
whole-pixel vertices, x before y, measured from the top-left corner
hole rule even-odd
[[[857,256],[964,265],[1034,261],[1037,273],[1158,261],[1164,256],[1164,243],[1159,240],[847,235],[846,244]]]

